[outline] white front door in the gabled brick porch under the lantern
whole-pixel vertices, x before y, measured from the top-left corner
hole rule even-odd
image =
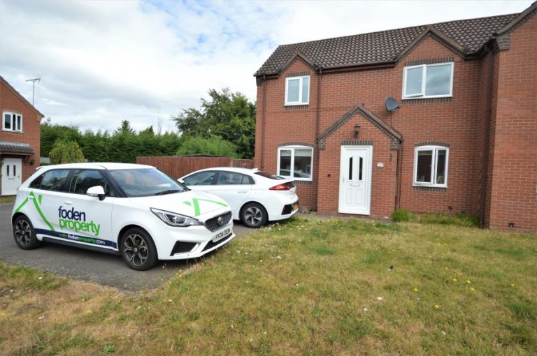
[[[369,215],[372,158],[372,146],[341,146],[338,212]]]

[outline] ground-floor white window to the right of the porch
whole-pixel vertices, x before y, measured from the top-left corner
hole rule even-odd
[[[447,187],[447,161],[450,149],[420,146],[414,150],[414,185]]]

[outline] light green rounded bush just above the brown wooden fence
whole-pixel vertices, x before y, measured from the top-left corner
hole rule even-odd
[[[191,136],[185,138],[181,143],[181,147],[177,151],[178,156],[185,154],[210,154],[211,156],[238,158],[236,146],[217,136],[212,138]]]

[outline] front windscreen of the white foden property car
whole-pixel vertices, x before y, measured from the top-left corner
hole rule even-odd
[[[179,181],[155,168],[110,170],[108,175],[129,198],[187,191]]]

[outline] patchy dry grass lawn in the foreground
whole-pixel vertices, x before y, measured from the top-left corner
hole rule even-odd
[[[293,218],[136,295],[0,263],[0,354],[536,355],[536,296],[537,235]]]

